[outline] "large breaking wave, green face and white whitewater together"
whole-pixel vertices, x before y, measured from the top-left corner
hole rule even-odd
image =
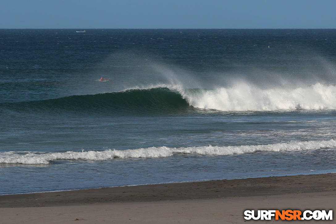
[[[121,92],[0,104],[0,110],[57,113],[178,113],[196,108],[218,111],[335,110],[336,86],[316,83],[304,87],[263,89],[242,82],[232,87],[183,89],[161,85]]]

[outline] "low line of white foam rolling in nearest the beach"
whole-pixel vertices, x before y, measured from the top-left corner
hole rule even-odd
[[[23,163],[23,164],[48,164],[54,160],[83,159],[83,160],[110,160],[114,158],[157,158],[168,157],[178,153],[202,154],[202,155],[232,155],[242,153],[252,153],[255,151],[297,151],[312,150],[320,148],[336,147],[336,141],[305,141],[276,143],[269,145],[242,145],[242,146],[199,146],[199,147],[181,147],[169,148],[150,147],[139,149],[115,150],[107,149],[104,151],[87,152],[56,152],[56,153],[34,153],[27,152],[22,155],[15,152],[0,153],[0,163]]]

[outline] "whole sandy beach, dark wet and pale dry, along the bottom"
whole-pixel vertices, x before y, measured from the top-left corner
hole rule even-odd
[[[260,223],[244,220],[244,211],[334,209],[335,178],[329,173],[1,195],[0,222]]]

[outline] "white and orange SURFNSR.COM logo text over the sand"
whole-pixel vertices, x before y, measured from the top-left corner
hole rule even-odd
[[[246,210],[244,219],[246,220],[333,220],[333,210]]]

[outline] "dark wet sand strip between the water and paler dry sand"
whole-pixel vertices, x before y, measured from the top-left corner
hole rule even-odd
[[[209,199],[336,190],[336,174],[273,176],[0,195],[0,208]]]

